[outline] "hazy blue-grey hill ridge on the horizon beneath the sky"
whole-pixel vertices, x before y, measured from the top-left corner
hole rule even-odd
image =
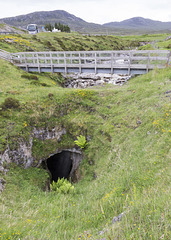
[[[16,17],[2,18],[0,22],[22,28],[26,28],[29,23],[36,23],[39,27],[42,27],[46,23],[61,22],[67,24],[72,31],[82,33],[171,32],[171,22],[134,17],[121,22],[110,22],[101,25],[86,22],[64,10],[33,12]]]

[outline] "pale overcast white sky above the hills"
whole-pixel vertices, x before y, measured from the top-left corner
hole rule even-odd
[[[171,22],[171,0],[0,0],[0,19],[53,10],[98,24],[132,17]]]

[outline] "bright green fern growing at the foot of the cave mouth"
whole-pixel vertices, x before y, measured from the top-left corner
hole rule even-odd
[[[65,178],[59,178],[57,182],[53,181],[50,184],[50,190],[58,193],[71,193],[74,192],[74,186]]]

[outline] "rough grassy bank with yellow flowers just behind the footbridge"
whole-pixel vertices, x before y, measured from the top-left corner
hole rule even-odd
[[[168,34],[141,36],[84,36],[78,33],[0,35],[0,48],[19,51],[91,51],[130,49],[171,49]]]

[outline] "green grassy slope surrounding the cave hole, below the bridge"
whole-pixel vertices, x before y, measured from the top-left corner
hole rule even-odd
[[[35,85],[5,61],[0,66],[0,104],[7,97],[20,101],[19,109],[0,111],[1,151],[7,136],[15,147],[34,126],[66,127],[59,144],[64,147],[74,146],[79,134],[90,137],[75,194],[45,191],[43,169],[14,166],[2,176],[1,239],[170,239],[171,108],[165,92],[171,69],[152,71],[122,87],[74,90],[46,75],[36,75]],[[56,147],[34,141],[33,154],[48,156]],[[111,225],[122,212],[122,221]]]

